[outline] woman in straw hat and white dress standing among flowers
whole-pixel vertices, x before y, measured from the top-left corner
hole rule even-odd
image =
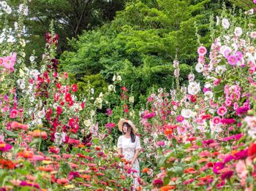
[[[118,154],[124,155],[124,159],[130,162],[130,167],[133,171],[133,186],[139,186],[138,178],[140,177],[140,165],[138,155],[140,152],[140,139],[135,136],[135,125],[129,120],[121,119],[118,122],[118,129],[123,133],[119,136],[117,142]]]

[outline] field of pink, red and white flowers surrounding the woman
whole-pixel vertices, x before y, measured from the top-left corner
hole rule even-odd
[[[105,93],[78,94],[79,85],[59,67],[53,25],[42,58],[26,59],[26,6],[0,44],[0,190],[133,190],[129,161],[116,150],[120,117],[135,122],[143,147],[136,190],[254,190],[254,24],[217,17],[188,84],[180,85],[176,58],[173,90],[152,90],[138,109],[119,74]],[[120,106],[111,105],[116,97]]]

